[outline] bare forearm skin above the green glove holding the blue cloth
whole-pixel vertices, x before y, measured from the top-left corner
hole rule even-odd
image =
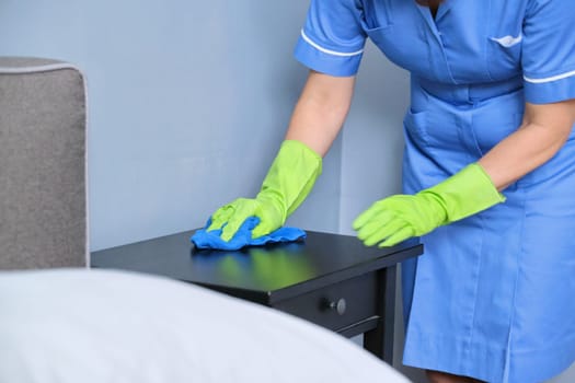
[[[333,77],[310,71],[289,128],[287,140],[298,140],[324,156],[342,129],[352,96],[355,77]]]

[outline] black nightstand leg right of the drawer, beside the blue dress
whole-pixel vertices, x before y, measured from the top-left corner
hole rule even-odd
[[[393,363],[393,333],[395,324],[396,266],[378,271],[377,327],[364,334],[364,348],[389,364]]]

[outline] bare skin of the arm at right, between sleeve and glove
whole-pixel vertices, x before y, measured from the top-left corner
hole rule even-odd
[[[526,104],[524,123],[479,163],[498,190],[549,161],[563,147],[575,124],[575,100]]]

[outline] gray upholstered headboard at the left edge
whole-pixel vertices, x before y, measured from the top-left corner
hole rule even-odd
[[[84,79],[0,57],[0,269],[88,262]]]

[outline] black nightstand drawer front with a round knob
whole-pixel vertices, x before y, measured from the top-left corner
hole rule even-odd
[[[330,329],[377,314],[377,280],[370,272],[279,301],[274,307]]]

